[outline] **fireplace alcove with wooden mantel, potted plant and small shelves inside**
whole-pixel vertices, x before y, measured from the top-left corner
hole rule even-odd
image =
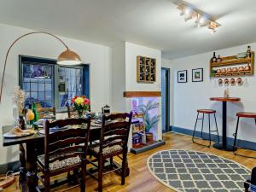
[[[165,144],[161,136],[160,92],[125,91],[124,96],[133,113],[131,152],[138,154]]]

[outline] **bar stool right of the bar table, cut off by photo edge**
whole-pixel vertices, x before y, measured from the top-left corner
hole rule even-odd
[[[236,132],[233,134],[233,136],[235,137],[235,140],[234,140],[234,145],[233,145],[233,153],[234,154],[237,154],[236,153],[236,139],[237,139],[237,131],[238,131],[238,126],[239,126],[239,120],[240,118],[249,118],[249,119],[254,119],[255,121],[255,125],[256,125],[256,113],[250,113],[250,112],[239,112],[239,113],[236,113],[236,116],[237,116],[237,123],[236,123]],[[247,156],[247,155],[243,155],[243,154],[238,154],[240,156],[243,156],[243,157],[248,157],[248,158],[254,158],[256,159],[256,157],[253,157],[253,156]]]

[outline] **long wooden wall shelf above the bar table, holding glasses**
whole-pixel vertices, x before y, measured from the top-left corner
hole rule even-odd
[[[221,57],[222,61],[210,61],[211,77],[245,76],[254,74],[254,52],[250,58],[236,58],[236,55]],[[243,69],[242,69],[243,68]],[[221,71],[225,69],[225,72]],[[221,71],[221,72],[219,72]]]

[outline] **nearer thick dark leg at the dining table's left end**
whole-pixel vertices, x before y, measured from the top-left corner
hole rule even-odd
[[[26,183],[29,192],[37,191],[37,153],[34,143],[26,143]]]

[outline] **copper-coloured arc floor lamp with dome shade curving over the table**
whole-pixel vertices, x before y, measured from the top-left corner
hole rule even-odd
[[[61,44],[63,44],[66,48],[66,50],[64,50],[63,52],[61,52],[61,54],[58,56],[57,58],[57,63],[60,65],[77,65],[81,63],[81,58],[78,54],[76,54],[75,52],[73,52],[72,50],[70,50],[67,47],[67,44],[65,44],[61,38],[56,37],[55,35],[49,33],[49,32],[28,32],[22,36],[20,36],[19,38],[16,38],[15,41],[10,45],[7,54],[5,56],[5,61],[4,61],[4,65],[3,65],[3,77],[2,77],[2,82],[1,82],[1,90],[0,90],[0,103],[2,101],[2,94],[3,94],[3,80],[4,80],[4,75],[5,75],[5,70],[6,70],[6,63],[7,63],[7,59],[9,56],[9,52],[10,49],[12,49],[12,47],[20,40],[20,38],[24,38],[26,36],[32,35],[32,34],[38,34],[38,33],[43,33],[49,36],[52,36],[54,38],[56,38],[57,40],[59,40],[61,42]]]

